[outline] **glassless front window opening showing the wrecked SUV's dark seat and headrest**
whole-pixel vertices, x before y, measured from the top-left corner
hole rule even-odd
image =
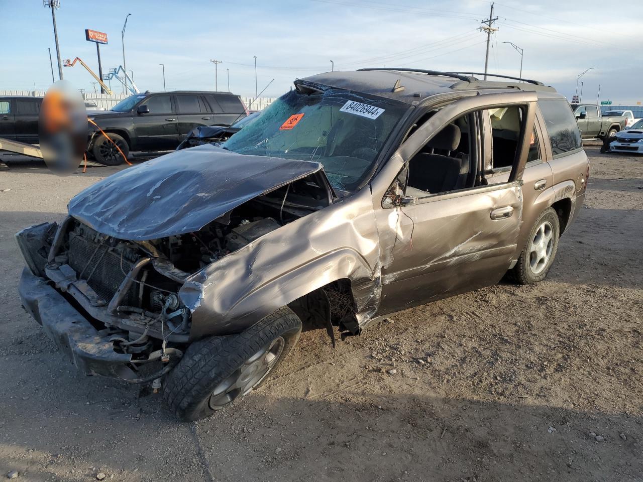
[[[408,163],[406,195],[426,197],[473,187],[477,157],[471,139],[476,115],[466,114],[446,125]]]

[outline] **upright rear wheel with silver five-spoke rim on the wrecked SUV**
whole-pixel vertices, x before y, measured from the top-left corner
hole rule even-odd
[[[521,285],[544,280],[554,263],[559,238],[558,215],[553,208],[547,208],[534,223],[518,263],[511,270],[512,278]]]

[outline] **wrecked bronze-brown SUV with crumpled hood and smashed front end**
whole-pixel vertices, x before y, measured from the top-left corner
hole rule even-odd
[[[122,170],[17,233],[24,307],[78,369],[195,420],[266,380],[302,323],[334,343],[545,278],[588,177],[552,87],[409,69],[294,87],[221,147]]]

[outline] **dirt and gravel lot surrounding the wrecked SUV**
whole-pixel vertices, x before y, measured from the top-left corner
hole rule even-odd
[[[587,147],[585,209],[543,283],[408,310],[176,422],[78,375],[20,306],[13,234],[117,168],[0,171],[0,472],[26,481],[643,481],[643,157]],[[390,375],[395,368],[397,373]]]

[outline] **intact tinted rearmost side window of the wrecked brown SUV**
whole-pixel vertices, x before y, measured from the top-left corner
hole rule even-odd
[[[545,119],[554,159],[583,147],[581,132],[578,130],[572,108],[566,100],[539,100],[538,107]]]

